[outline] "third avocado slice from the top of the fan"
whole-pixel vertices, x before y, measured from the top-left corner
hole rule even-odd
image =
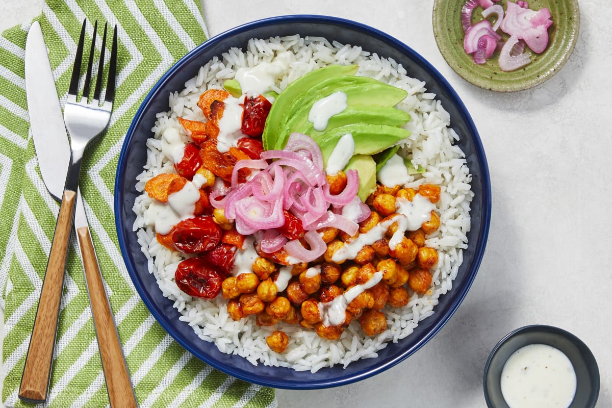
[[[329,130],[354,123],[400,127],[409,122],[410,119],[408,112],[387,106],[347,106],[344,111],[329,118],[327,128],[323,132],[315,130],[313,123],[310,121],[307,121],[301,128],[293,130],[293,132],[318,138]],[[378,163],[378,160],[376,162]]]

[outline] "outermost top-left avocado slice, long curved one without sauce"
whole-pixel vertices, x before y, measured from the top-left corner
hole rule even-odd
[[[264,133],[261,136],[264,149],[274,149],[275,146],[279,145],[279,143],[277,143],[277,136],[281,120],[289,105],[296,100],[299,94],[329,78],[355,75],[357,69],[359,69],[357,65],[327,65],[327,67],[311,71],[290,83],[285,90],[278,95],[278,98],[272,104],[272,108],[267,116]],[[283,144],[282,147],[285,147],[285,144]]]

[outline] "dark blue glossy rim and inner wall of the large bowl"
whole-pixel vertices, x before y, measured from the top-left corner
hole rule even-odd
[[[457,311],[457,308],[459,307],[463,299],[465,299],[465,296],[468,293],[468,290],[471,287],[474,281],[474,278],[476,278],[477,270],[479,269],[480,263],[482,262],[483,254],[485,252],[488,231],[489,231],[489,226],[490,226],[490,218],[491,218],[490,175],[489,175],[489,170],[488,170],[487,159],[485,157],[485,152],[482,146],[482,141],[480,140],[479,133],[477,132],[476,126],[474,125],[474,122],[472,121],[471,116],[469,116],[469,113],[463,101],[461,101],[460,97],[457,95],[455,90],[450,86],[450,84],[446,81],[446,79],[444,79],[444,77],[438,72],[438,70],[436,70],[433,67],[433,65],[431,65],[427,60],[425,60],[422,56],[420,56],[420,54],[412,50],[412,48],[410,48],[405,43],[401,42],[400,40],[395,39],[389,34],[379,31],[378,29],[372,28],[371,26],[368,26],[366,24],[357,23],[356,21],[347,20],[344,18],[330,17],[330,16],[324,16],[324,15],[283,15],[283,16],[278,16],[278,17],[264,18],[261,20],[256,20],[250,23],[242,24],[241,26],[237,26],[235,28],[229,29],[228,31],[225,31],[221,34],[215,35],[214,37],[207,40],[206,42],[201,43],[200,45],[196,46],[192,51],[189,51],[187,54],[185,54],[184,57],[179,59],[179,61],[177,61],[160,78],[160,80],[157,81],[157,83],[155,83],[155,85],[149,91],[149,94],[147,94],[147,96],[144,98],[143,102],[141,103],[140,108],[138,108],[138,111],[136,111],[136,114],[132,120],[132,124],[130,124],[130,127],[126,133],[124,144],[119,154],[118,172],[116,174],[116,181],[115,181],[114,206],[115,206],[115,214],[116,214],[116,229],[118,232],[119,247],[121,249],[122,256],[124,256],[124,259],[125,259],[125,251],[126,251],[125,242],[127,241],[128,238],[127,236],[125,236],[124,231],[122,229],[122,224],[125,221],[122,217],[122,212],[120,210],[121,200],[120,200],[118,192],[121,187],[121,180],[124,176],[123,169],[125,168],[125,157],[127,154],[127,149],[130,144],[130,141],[132,140],[134,136],[136,122],[138,122],[138,117],[140,117],[143,114],[143,112],[146,111],[147,106],[151,102],[153,94],[155,93],[154,92],[155,89],[159,88],[163,83],[165,83],[165,81],[171,75],[173,75],[173,73],[176,72],[176,70],[179,70],[181,65],[184,64],[185,61],[188,61],[192,59],[193,57],[196,57],[197,54],[199,54],[203,48],[211,46],[215,42],[222,41],[223,39],[231,37],[234,34],[237,34],[243,31],[247,31],[249,29],[269,26],[272,24],[290,24],[294,22],[304,22],[304,21],[308,21],[310,23],[318,23],[318,24],[335,24],[337,26],[343,26],[346,28],[358,29],[362,32],[365,32],[365,34],[371,35],[373,37],[378,37],[378,39],[382,40],[383,42],[389,43],[390,45],[394,46],[398,50],[403,51],[403,53],[409,54],[413,59],[418,61],[419,64],[423,65],[427,70],[429,70],[430,75],[433,76],[433,78],[435,78],[435,80],[438,82],[438,85],[444,91],[446,91],[447,94],[450,95],[450,97],[453,100],[453,103],[455,103],[458,106],[461,112],[461,116],[463,116],[463,120],[465,121],[466,125],[469,128],[469,132],[473,136],[472,141],[476,148],[476,155],[480,160],[480,171],[482,172],[481,183],[482,183],[483,207],[482,207],[482,214],[481,214],[482,226],[480,228],[478,236],[476,237],[476,242],[478,245],[475,248],[475,252],[474,252],[474,259],[472,261],[472,265],[473,265],[472,270],[469,271],[469,276],[468,276],[468,279],[465,281],[464,286],[453,289],[453,291],[455,291],[455,294],[454,294],[455,299],[453,303],[450,304],[448,313],[444,315],[444,317],[442,317],[440,321],[438,321],[430,329],[429,332],[427,332],[427,334],[424,336],[424,338],[422,338],[419,341],[419,343],[415,344],[413,347],[409,347],[408,349],[405,349],[400,354],[395,355],[395,357],[392,358],[392,360],[390,360],[389,362],[385,364],[377,365],[375,367],[368,367],[357,373],[340,375],[340,376],[335,377],[335,379],[333,380],[320,379],[320,380],[304,380],[300,382],[294,382],[291,380],[283,379],[282,377],[279,377],[278,379],[275,379],[275,380],[262,379],[261,377],[258,377],[256,375],[255,371],[245,372],[245,371],[237,370],[232,366],[223,365],[222,363],[217,362],[213,358],[210,358],[206,354],[203,354],[200,350],[196,349],[192,344],[186,341],[183,341],[183,339],[180,336],[177,336],[176,333],[173,333],[171,328],[167,324],[165,324],[163,316],[160,316],[160,314],[158,314],[155,311],[155,308],[153,307],[154,302],[151,299],[149,299],[146,288],[144,287],[144,284],[140,281],[140,278],[138,277],[138,274],[136,273],[136,271],[133,269],[132,265],[130,265],[129,262],[125,262],[125,266],[127,267],[127,272],[129,273],[130,278],[132,279],[132,282],[136,288],[136,291],[140,295],[141,299],[143,300],[143,302],[145,303],[145,305],[147,306],[151,314],[155,317],[155,320],[159,322],[159,324],[164,328],[164,330],[166,330],[166,332],[170,333],[170,335],[173,336],[173,338],[177,341],[177,343],[181,344],[181,346],[183,346],[187,351],[195,355],[195,357],[200,358],[200,360],[203,360],[204,362],[208,363],[209,365],[213,366],[216,369],[219,369],[220,371],[223,371],[226,374],[230,374],[231,376],[234,376],[241,380],[245,380],[247,382],[252,382],[254,384],[264,385],[268,387],[287,388],[287,389],[296,389],[296,390],[337,387],[340,385],[351,384],[353,382],[367,379],[368,377],[374,376],[375,374],[381,373],[382,371],[385,371],[386,369],[389,369],[392,366],[397,365],[401,361],[405,360],[405,358],[409,357],[409,355],[414,354],[414,352],[418,351],[420,347],[424,346],[431,338],[433,338],[433,336],[436,335],[436,333],[439,332],[439,330],[441,330],[441,328],[446,324],[446,322],[449,321],[450,317],[452,317],[455,311]]]

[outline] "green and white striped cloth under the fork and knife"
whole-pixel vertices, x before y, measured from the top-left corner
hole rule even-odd
[[[274,390],[248,384],[185,351],[149,314],[121,258],[113,188],[119,151],[144,96],[206,40],[198,0],[47,0],[40,21],[64,105],[84,18],[118,24],[119,75],[108,132],[88,147],[81,191],[140,407],[276,407]],[[18,388],[59,204],[40,178],[24,81],[30,23],[0,37],[0,285],[5,314],[2,401],[27,407]],[[89,26],[89,35],[92,28]],[[108,396],[75,240],[70,248],[45,407],[105,407]]]

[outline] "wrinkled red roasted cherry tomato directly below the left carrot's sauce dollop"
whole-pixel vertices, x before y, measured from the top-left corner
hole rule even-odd
[[[223,230],[212,220],[210,215],[188,218],[174,227],[172,242],[182,253],[210,251],[223,237]]]

